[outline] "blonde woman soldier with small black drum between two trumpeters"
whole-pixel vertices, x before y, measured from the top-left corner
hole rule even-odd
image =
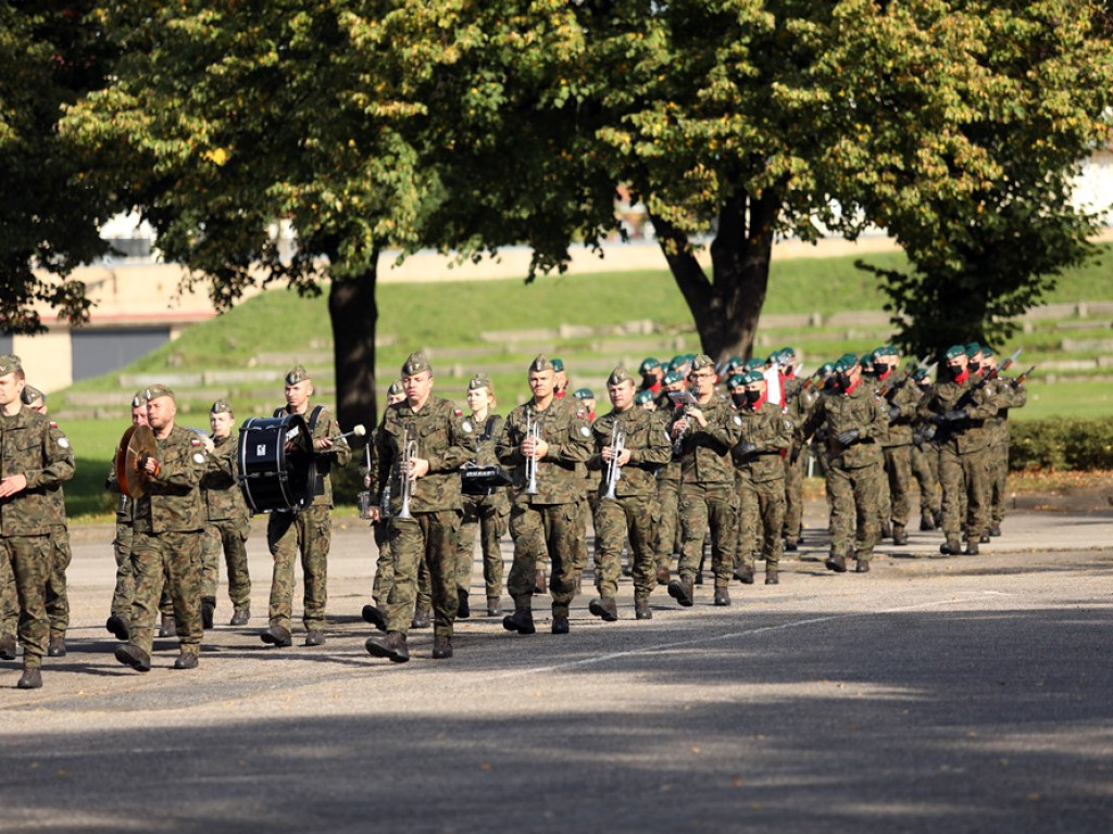
[[[474,464],[480,467],[499,463],[494,445],[502,435],[502,417],[492,414],[496,408],[494,386],[484,375],[477,374],[467,383],[467,407],[472,411],[471,423],[475,426],[476,455]],[[463,517],[460,523],[460,555],[456,577],[460,608],[456,616],[470,616],[467,593],[472,586],[472,552],[475,535],[480,534],[483,552],[483,585],[486,590],[486,613],[489,617],[502,614],[502,548],[500,539],[506,533],[510,518],[510,497],[505,486],[464,485]]]

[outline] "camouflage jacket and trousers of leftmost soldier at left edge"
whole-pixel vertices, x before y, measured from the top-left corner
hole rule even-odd
[[[47,599],[56,567],[51,532],[57,509],[51,490],[73,476],[73,454],[59,445],[50,421],[26,406],[18,414],[0,415],[0,477],[24,475],[27,487],[0,498],[0,582],[7,586],[4,616],[0,632],[11,634],[12,586],[18,600],[19,641],[23,644],[24,668],[42,665],[50,639]]]

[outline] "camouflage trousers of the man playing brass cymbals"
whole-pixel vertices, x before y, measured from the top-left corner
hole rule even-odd
[[[136,532],[131,542],[131,645],[148,655],[164,589],[169,593],[181,651],[201,646],[201,530],[157,535]]]

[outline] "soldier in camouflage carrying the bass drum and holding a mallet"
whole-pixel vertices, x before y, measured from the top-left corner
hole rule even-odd
[[[275,409],[275,417],[299,414],[306,418],[313,436],[316,481],[312,504],[298,513],[276,510],[267,520],[267,545],[274,557],[270,580],[269,625],[259,638],[285,647],[293,644],[290,618],[294,609],[294,562],[302,552],[305,577],[305,645],[325,644],[325,604],[328,598],[328,546],[332,542],[333,465],[347,466],[352,449],[342,437],[339,425],[324,406],[311,406],[313,380],[302,365],[286,375],[286,407]],[[334,439],[335,438],[335,439]]]

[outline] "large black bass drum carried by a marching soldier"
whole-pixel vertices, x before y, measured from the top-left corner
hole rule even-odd
[[[313,438],[302,415],[245,420],[238,455],[239,486],[253,513],[296,513],[313,502]]]

